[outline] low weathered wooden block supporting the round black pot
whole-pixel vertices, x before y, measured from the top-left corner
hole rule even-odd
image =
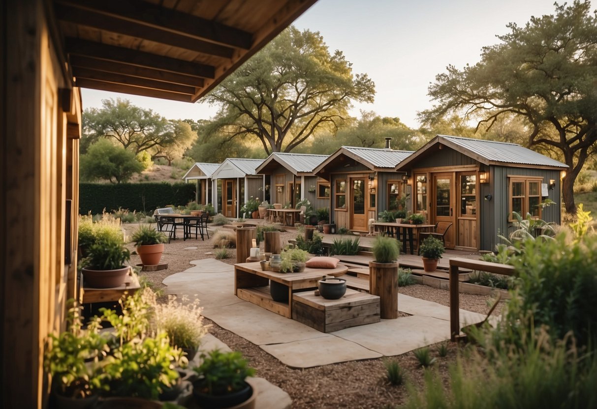
[[[337,300],[313,290],[293,294],[293,320],[321,332],[333,332],[380,321],[379,297],[347,289]]]

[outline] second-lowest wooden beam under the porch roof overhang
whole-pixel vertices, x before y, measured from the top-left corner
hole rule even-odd
[[[72,67],[121,73],[132,77],[155,79],[158,81],[165,81],[180,85],[195,86],[197,88],[203,88],[204,85],[203,78],[177,74],[163,70],[154,70],[151,68],[131,66],[130,64],[119,63],[118,61],[106,61],[98,60],[97,58],[82,57],[81,55],[71,55],[70,65]]]

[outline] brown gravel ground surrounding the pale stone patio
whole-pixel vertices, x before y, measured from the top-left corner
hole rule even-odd
[[[125,224],[127,235],[130,236],[136,229],[136,224]],[[210,237],[220,227],[210,226]],[[282,244],[293,240],[297,236],[295,230],[281,234]],[[134,250],[130,244],[131,251]],[[196,248],[195,248],[196,247]],[[261,244],[263,248],[263,244]],[[192,260],[213,258],[213,243],[211,240],[175,240],[166,244],[162,262],[168,263],[168,269],[155,272],[141,272],[155,289],[164,288],[162,280],[168,275],[184,271],[191,267]],[[233,265],[236,262],[236,250],[230,249],[230,258],[221,260]],[[131,257],[131,264],[139,264],[139,256]],[[447,290],[435,289],[429,286],[416,284],[414,286],[400,287],[399,293],[420,299],[430,300],[442,305],[449,305]],[[460,308],[468,311],[486,314],[491,300],[487,296],[460,294]],[[500,303],[493,314],[498,314]],[[406,388],[404,385],[392,386],[386,378],[384,362],[388,359],[397,360],[405,370],[408,382],[416,388],[423,385],[424,369],[418,365],[412,352],[396,357],[376,360],[352,361],[341,364],[324,365],[322,367],[307,369],[291,369],[283,365],[272,355],[264,352],[259,346],[236,334],[224,330],[213,321],[205,319],[204,323],[212,324],[210,332],[230,348],[242,351],[257,369],[257,375],[264,377],[274,385],[288,392],[293,399],[293,408],[381,408],[384,405],[399,405],[404,402]],[[456,360],[459,345],[447,342],[448,355],[439,357],[436,351],[439,344],[430,346],[433,357],[437,358],[435,368],[442,374],[447,382],[448,365]]]

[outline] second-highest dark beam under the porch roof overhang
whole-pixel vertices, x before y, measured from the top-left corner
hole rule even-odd
[[[107,32],[146,39],[159,44],[170,45],[208,55],[216,55],[217,57],[222,58],[231,58],[234,52],[234,49],[230,47],[181,35],[179,33],[173,33],[158,27],[150,27],[134,21],[122,20],[121,18],[97,13],[95,11],[60,4],[57,4],[55,8],[56,16],[58,16],[59,20],[81,24],[82,26],[94,27]]]

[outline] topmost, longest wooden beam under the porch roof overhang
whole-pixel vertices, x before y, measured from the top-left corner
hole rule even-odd
[[[253,45],[253,35],[244,30],[181,13],[171,8],[159,7],[143,0],[87,0],[84,2],[58,0],[57,2],[227,47],[250,49]]]

